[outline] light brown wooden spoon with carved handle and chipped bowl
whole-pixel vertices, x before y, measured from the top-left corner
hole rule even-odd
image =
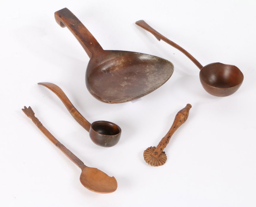
[[[58,147],[71,161],[74,162],[81,170],[80,182],[87,189],[96,193],[112,193],[117,189],[117,181],[115,177],[109,177],[106,173],[93,167],[86,166],[77,156],[75,156],[69,149],[61,144],[35,117],[34,111],[29,106],[24,106],[22,111],[34,122],[41,132]]]

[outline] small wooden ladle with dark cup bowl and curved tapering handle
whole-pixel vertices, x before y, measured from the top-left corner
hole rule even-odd
[[[49,88],[61,99],[72,117],[74,117],[74,119],[89,132],[93,143],[102,147],[112,147],[118,143],[121,137],[121,128],[117,124],[108,121],[96,121],[90,124],[90,122],[77,111],[58,85],[47,82],[38,83],[38,85],[43,85],[46,88]]]

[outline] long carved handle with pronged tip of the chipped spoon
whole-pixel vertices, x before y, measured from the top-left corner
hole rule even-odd
[[[61,144],[39,121],[38,118],[35,117],[34,111],[29,106],[28,108],[24,106],[24,109],[21,109],[34,124],[38,127],[38,129],[43,132],[43,134],[56,146],[58,147],[71,161],[74,162],[80,169],[85,168],[85,164],[75,156],[69,149],[67,149],[63,144]]]

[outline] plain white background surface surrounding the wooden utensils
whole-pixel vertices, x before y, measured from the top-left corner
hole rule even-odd
[[[0,7],[1,206],[256,206],[256,1],[3,1]],[[102,103],[85,86],[89,58],[54,12],[67,7],[104,49],[168,59],[174,73],[139,101]],[[181,52],[135,25],[145,20],[206,65],[222,62],[244,73],[228,97],[206,93],[198,68]],[[90,122],[122,128],[120,142],[99,147],[58,97],[38,82],[60,86]],[[176,113],[187,122],[152,167],[143,151],[156,146]],[[118,182],[111,194],[87,190],[80,169],[21,108],[31,106],[57,139],[88,166]]]

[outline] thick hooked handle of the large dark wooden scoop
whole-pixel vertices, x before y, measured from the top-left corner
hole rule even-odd
[[[69,9],[55,12],[54,17],[61,27],[66,26],[71,31],[90,58],[93,54],[103,51],[98,41]]]

